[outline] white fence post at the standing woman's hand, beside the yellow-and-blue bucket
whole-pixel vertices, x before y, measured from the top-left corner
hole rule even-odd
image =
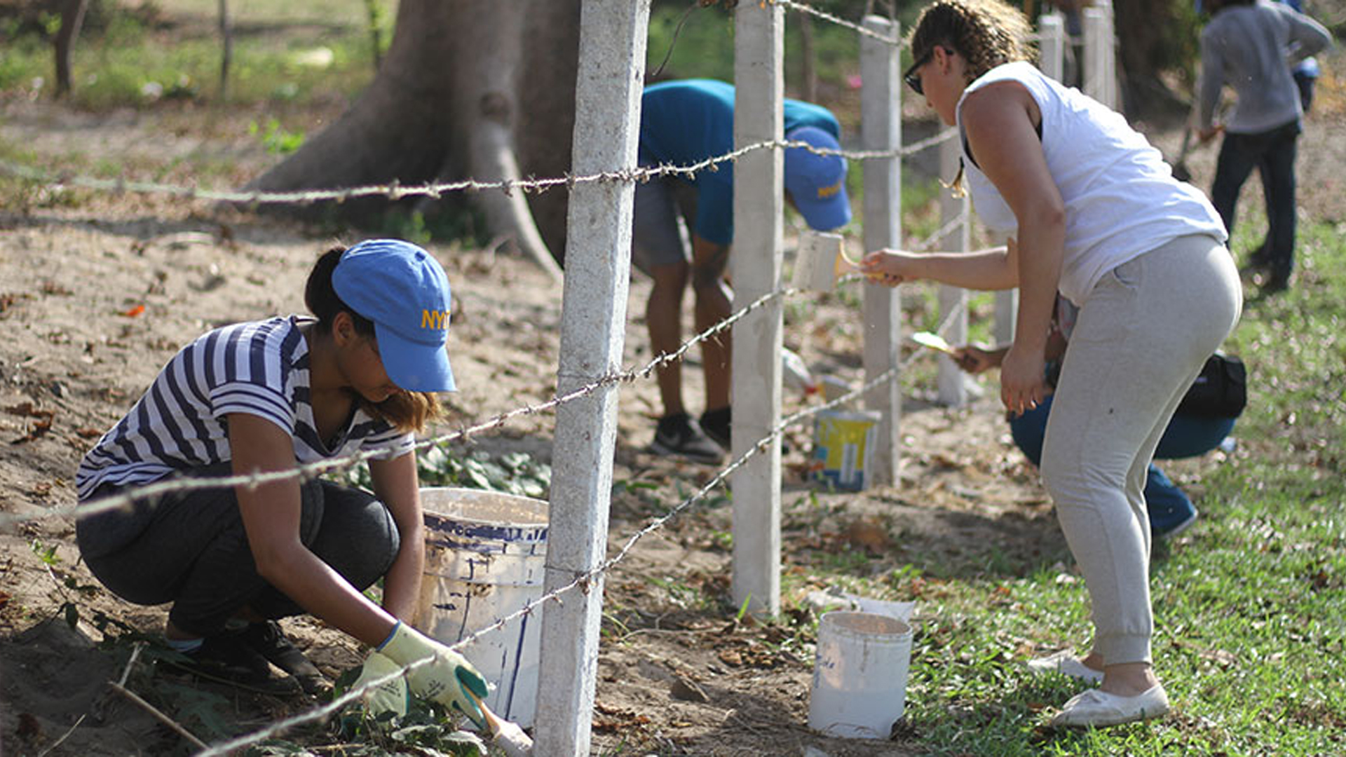
[[[883,16],[865,16],[864,28],[898,38],[898,24]],[[867,151],[895,151],[902,147],[900,48],[882,39],[860,35],[860,140]],[[864,251],[902,245],[902,159],[864,160]],[[864,286],[864,377],[875,376],[900,362],[902,296],[896,287]],[[865,482],[879,486],[896,484],[900,462],[899,422],[902,389],[898,377],[864,395],[864,405],[876,409],[878,446],[874,470]]]

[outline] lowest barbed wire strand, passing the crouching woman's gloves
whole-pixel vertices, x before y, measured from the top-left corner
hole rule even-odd
[[[949,326],[953,323],[953,319],[960,312],[962,312],[964,307],[965,307],[965,304],[960,302],[953,308],[950,308],[949,312],[940,322],[940,325],[935,327],[935,333],[944,334],[949,329]],[[835,397],[832,400],[828,400],[825,403],[821,403],[821,404],[817,404],[817,405],[809,405],[806,408],[802,408],[802,409],[800,409],[800,411],[797,411],[794,414],[790,414],[789,416],[781,419],[781,422],[777,423],[765,436],[762,436],[760,439],[758,439],[756,442],[754,442],[752,446],[750,446],[742,455],[739,455],[738,458],[735,458],[730,465],[727,465],[725,467],[720,469],[720,471],[716,473],[713,477],[711,477],[711,480],[707,481],[704,485],[701,485],[700,489],[697,489],[690,496],[688,496],[686,498],[684,498],[681,502],[678,502],[677,505],[674,505],[672,509],[669,509],[669,512],[666,512],[666,513],[664,513],[664,515],[661,515],[658,517],[651,519],[643,528],[641,528],[639,531],[635,531],[634,533],[631,533],[631,536],[627,537],[627,540],[623,543],[622,548],[618,550],[615,555],[604,559],[602,563],[599,563],[598,566],[595,566],[595,567],[592,567],[592,568],[590,568],[587,571],[576,572],[575,578],[569,583],[567,583],[564,586],[559,586],[559,587],[553,589],[552,591],[545,593],[541,597],[537,597],[534,599],[529,599],[528,602],[524,603],[522,607],[520,607],[520,609],[517,609],[517,610],[514,610],[514,612],[511,612],[511,613],[509,613],[509,614],[506,614],[506,616],[503,616],[501,618],[497,618],[494,622],[491,622],[491,624],[489,624],[489,625],[486,625],[486,626],[483,626],[483,628],[472,632],[468,636],[464,636],[463,638],[455,641],[454,644],[446,644],[446,647],[448,647],[450,649],[452,649],[455,652],[462,652],[472,641],[476,641],[476,638],[479,638],[479,637],[482,637],[482,636],[485,636],[485,634],[487,634],[490,632],[502,629],[502,628],[505,628],[506,625],[509,625],[514,620],[522,618],[525,616],[530,616],[534,609],[545,605],[546,602],[559,602],[559,603],[561,603],[561,595],[563,594],[567,594],[569,591],[575,591],[576,589],[581,589],[581,590],[588,591],[590,586],[592,583],[595,583],[599,578],[602,578],[603,574],[606,574],[607,571],[612,570],[622,560],[625,560],[626,556],[631,552],[631,550],[635,548],[635,544],[641,541],[641,539],[643,539],[643,537],[649,536],[650,533],[653,533],[653,532],[664,528],[664,525],[666,525],[670,520],[673,520],[673,517],[676,517],[677,515],[682,513],[684,511],[686,511],[688,508],[690,508],[692,505],[695,505],[696,502],[704,500],[711,492],[713,492],[715,489],[717,489],[719,486],[721,486],[728,480],[728,477],[731,474],[734,474],[736,470],[739,470],[740,467],[743,467],[744,465],[747,465],[747,462],[750,459],[752,459],[758,454],[766,451],[769,449],[769,445],[773,440],[778,439],[787,428],[798,424],[802,420],[806,420],[806,419],[809,419],[812,416],[816,416],[816,415],[818,415],[818,414],[821,414],[824,411],[828,411],[828,409],[832,409],[835,407],[844,405],[844,404],[847,404],[847,403],[849,403],[852,400],[860,399],[870,389],[874,389],[874,388],[880,387],[880,385],[883,385],[883,384],[886,384],[888,381],[895,380],[896,376],[900,373],[900,370],[905,369],[905,368],[907,368],[919,356],[921,356],[919,352],[913,352],[910,356],[907,356],[906,360],[899,361],[896,365],[890,366],[887,370],[883,370],[882,373],[876,374],[874,378],[870,378],[868,381],[865,381],[864,384],[861,384],[859,388],[852,389],[852,391],[849,391],[849,392],[847,392],[847,393],[844,393],[844,395],[841,395],[839,397]],[[289,729],[292,729],[295,726],[299,726],[299,725],[303,725],[303,723],[307,723],[307,722],[323,718],[323,717],[326,717],[328,714],[336,713],[342,707],[345,707],[346,704],[349,704],[349,703],[354,702],[355,699],[358,699],[359,695],[363,694],[365,691],[376,688],[378,686],[382,686],[386,682],[396,680],[398,678],[406,678],[411,673],[411,671],[413,671],[413,669],[416,669],[416,668],[419,668],[421,665],[429,664],[429,661],[431,661],[429,659],[419,660],[416,663],[412,663],[412,664],[404,667],[402,669],[400,669],[397,672],[392,672],[392,673],[388,673],[385,676],[381,676],[381,678],[377,678],[377,679],[371,679],[365,686],[362,686],[359,688],[350,690],[350,691],[345,692],[343,695],[332,699],[327,704],[323,704],[320,707],[315,707],[312,710],[300,713],[297,715],[292,715],[291,718],[287,718],[284,721],[279,721],[276,723],[272,723],[272,725],[269,725],[269,726],[267,726],[264,729],[256,730],[253,733],[244,734],[244,735],[237,737],[237,738],[234,738],[232,741],[227,741],[225,744],[219,744],[219,745],[211,746],[210,749],[206,749],[203,752],[198,752],[195,757],[215,757],[217,754],[227,754],[227,753],[230,753],[230,752],[233,752],[236,749],[241,749],[244,746],[249,746],[249,745],[257,744],[260,741],[265,741],[268,738],[279,735],[279,734],[281,734],[281,733],[284,733],[284,731],[287,731],[287,730],[289,730]]]

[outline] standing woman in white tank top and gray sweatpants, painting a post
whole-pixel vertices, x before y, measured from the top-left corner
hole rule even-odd
[[[1206,198],[1174,179],[1121,114],[1032,67],[1027,32],[1023,15],[999,0],[937,0],[914,28],[905,77],[958,127],[973,206],[1007,244],[876,251],[863,268],[892,286],[1018,287],[1015,339],[1000,372],[1001,401],[1015,414],[1050,391],[1043,352],[1057,292],[1081,307],[1042,475],[1089,589],[1093,649],[1028,667],[1101,682],[1066,702],[1053,725],[1108,726],[1168,711],[1151,659],[1144,471],[1242,298]]]

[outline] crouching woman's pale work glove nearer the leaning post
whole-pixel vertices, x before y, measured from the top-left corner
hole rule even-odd
[[[476,727],[485,727],[486,718],[472,695],[486,698],[486,679],[466,657],[401,621],[397,621],[392,636],[378,651],[402,667],[433,657],[433,661],[416,667],[408,675],[406,683],[412,694],[452,707],[467,715]]]

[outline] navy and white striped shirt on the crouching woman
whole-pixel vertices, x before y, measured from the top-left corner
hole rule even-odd
[[[355,409],[350,424],[324,442],[310,400],[308,342],[297,315],[234,323],[183,348],[149,391],[79,463],[75,488],[85,500],[98,486],[144,485],[167,475],[229,462],[229,414],[256,415],[295,440],[295,461],[316,462],[362,450],[386,458],[411,451],[413,438]]]

